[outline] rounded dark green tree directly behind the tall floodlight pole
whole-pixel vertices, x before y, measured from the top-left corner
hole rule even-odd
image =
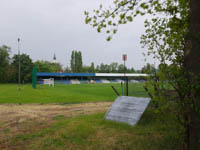
[[[21,55],[15,54],[12,58],[12,60],[13,60],[12,66],[15,70],[14,81],[17,82],[17,80],[18,80],[19,58],[20,58],[20,65],[21,65],[21,81],[22,82],[31,82],[33,62],[32,62],[32,59],[27,54],[21,54]]]

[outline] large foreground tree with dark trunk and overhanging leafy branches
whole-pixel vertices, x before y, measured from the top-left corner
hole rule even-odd
[[[184,119],[184,149],[200,149],[199,7],[199,0],[115,0],[113,9],[105,10],[100,5],[93,16],[85,11],[85,22],[98,32],[107,29],[108,41],[119,25],[132,22],[138,15],[152,15],[145,21],[141,43],[148,47],[148,55],[160,60],[160,78],[168,80],[178,95],[179,114]]]

